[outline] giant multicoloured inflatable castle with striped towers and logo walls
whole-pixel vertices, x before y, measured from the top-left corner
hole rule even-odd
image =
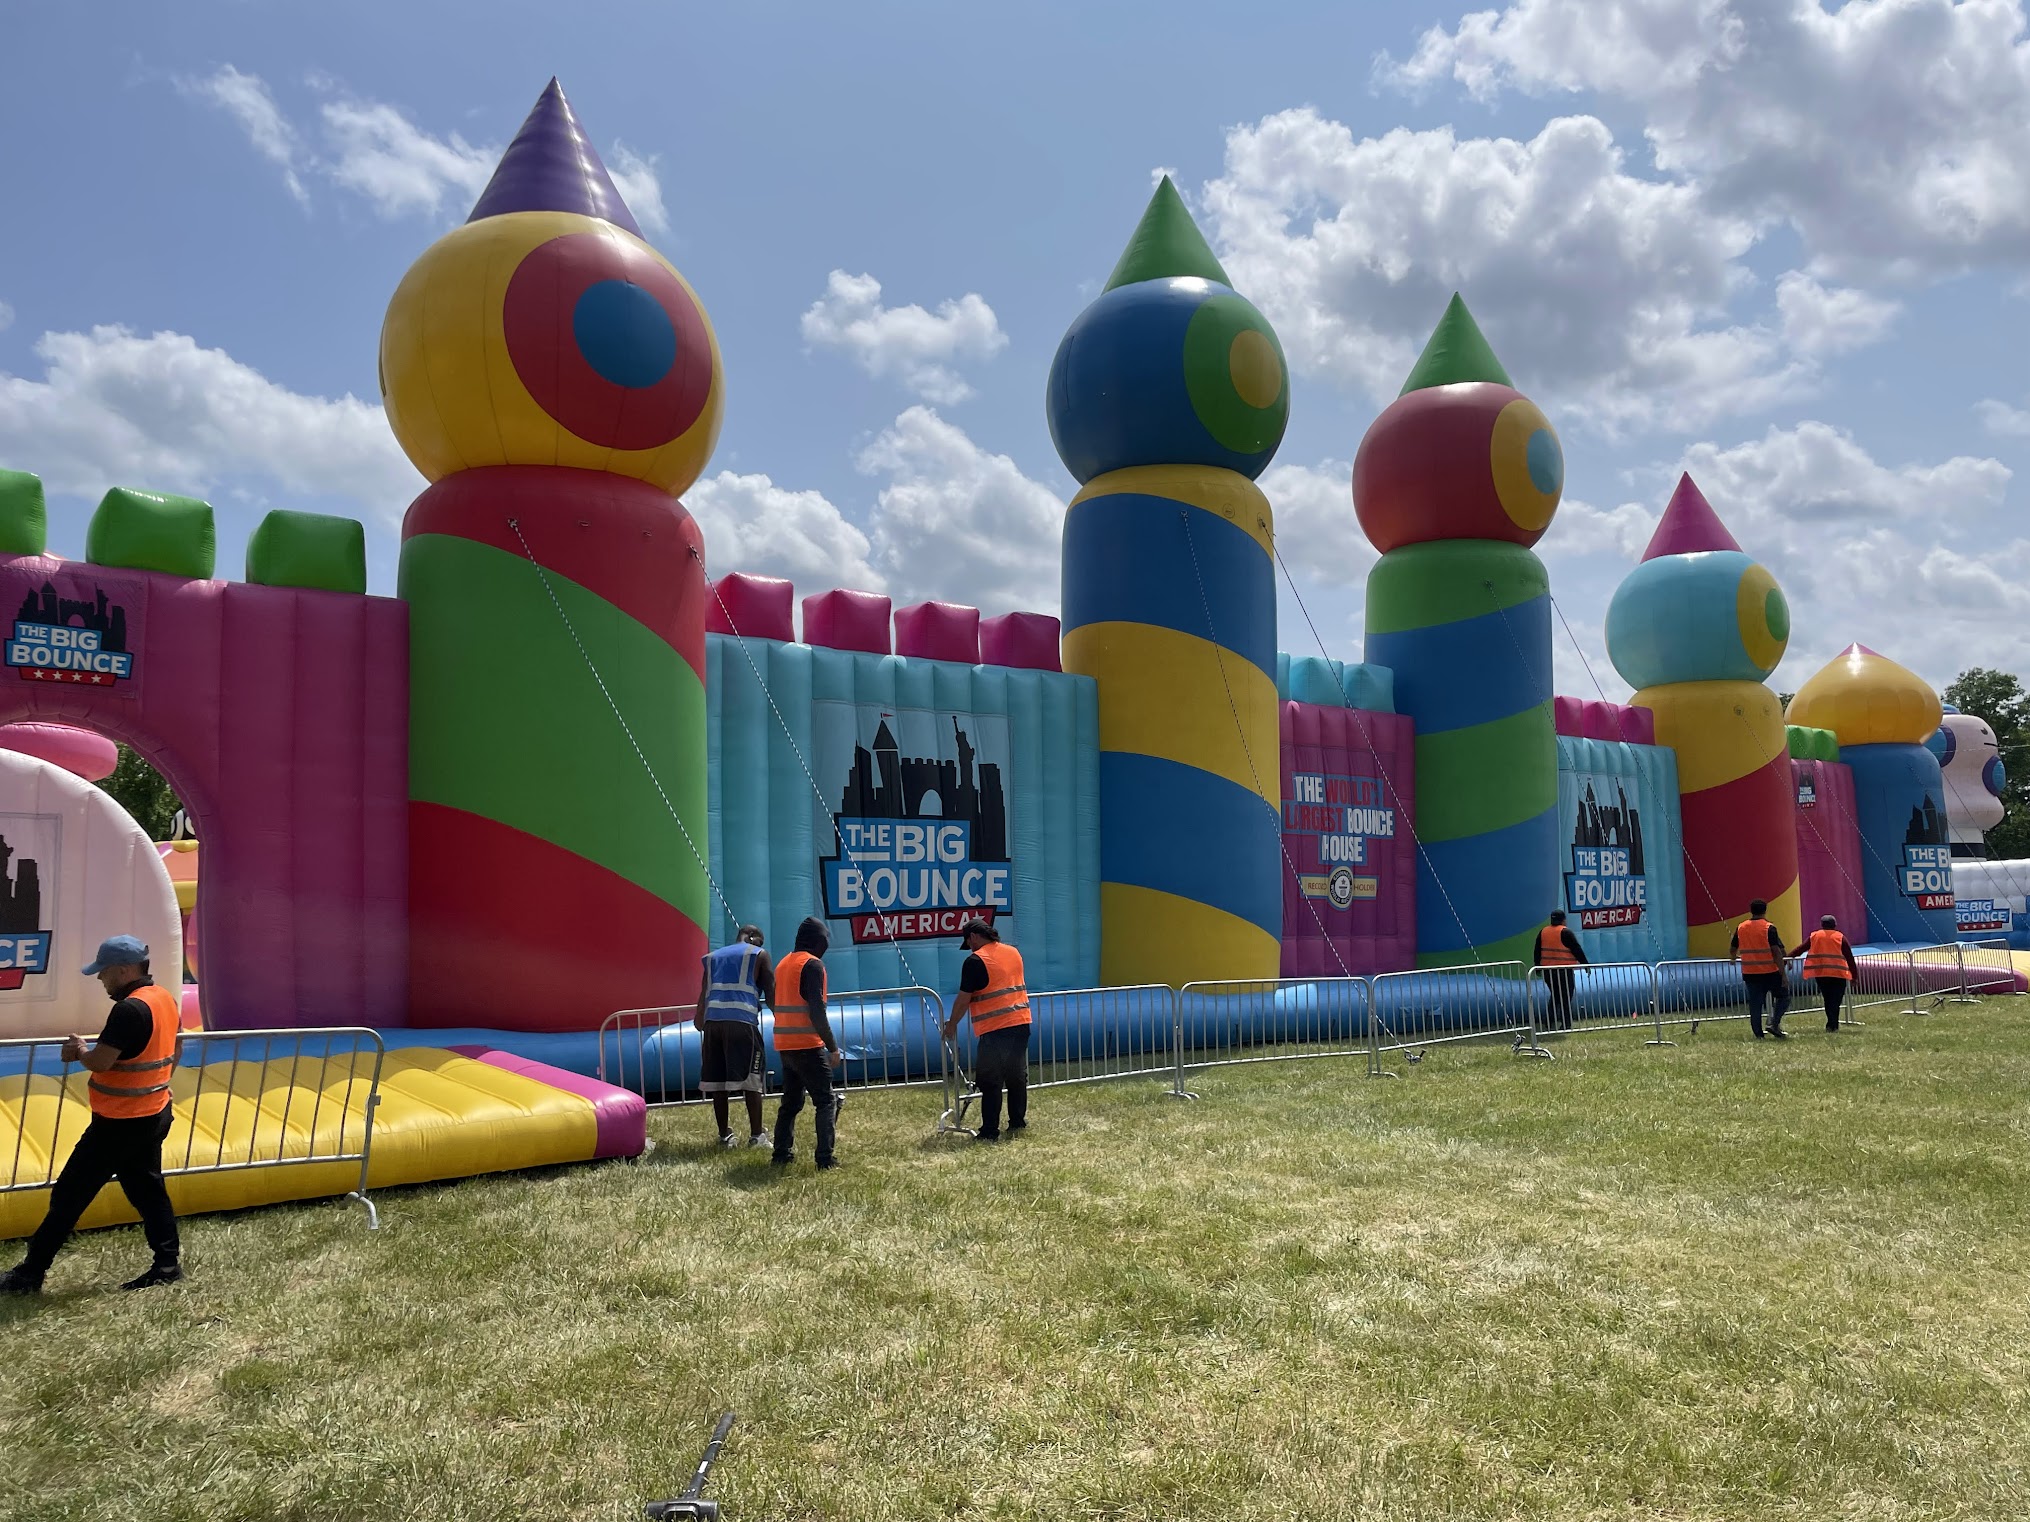
[[[972,917],[1039,990],[1527,964],[1553,909],[1596,962],[1723,958],[1750,899],[1937,944],[2000,791],[1961,802],[1977,720],[1866,645],[1780,710],[1782,591],[1689,477],[1608,609],[1634,696],[1555,692],[1563,455],[1460,298],[1358,446],[1360,660],[1279,649],[1289,373],[1167,181],[1050,369],[1058,617],[717,564],[680,499],[710,321],[554,81],[394,292],[380,386],[428,481],[392,599],[351,522],[274,511],[227,580],[205,503],[114,489],[73,562],[0,479],[0,722],[128,741],[185,800],[211,1029],[589,1071],[613,1011],[806,915],[836,990],[950,990]],[[0,1033],[71,1029],[49,990],[142,909],[63,895],[146,852],[8,783]]]

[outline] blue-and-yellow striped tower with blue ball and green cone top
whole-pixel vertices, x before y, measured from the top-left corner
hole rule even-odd
[[[1165,179],[1058,345],[1064,670],[1100,688],[1100,980],[1273,978],[1283,956],[1275,331]]]

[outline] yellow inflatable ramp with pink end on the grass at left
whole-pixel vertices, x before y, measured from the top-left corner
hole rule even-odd
[[[238,1061],[211,1051],[201,1067],[177,1067],[162,1145],[177,1214],[357,1189],[374,1053],[252,1061],[246,1049],[260,1043],[240,1045]],[[0,1183],[16,1185],[0,1193],[0,1240],[28,1236],[43,1220],[47,1179],[89,1118],[81,1067],[0,1076]],[[487,1047],[406,1047],[382,1059],[367,1189],[637,1157],[646,1136],[639,1094]],[[81,1226],[132,1220],[112,1183]]]

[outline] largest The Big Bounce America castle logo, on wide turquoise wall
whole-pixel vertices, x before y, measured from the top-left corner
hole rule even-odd
[[[1011,913],[1005,759],[987,759],[1007,757],[1007,720],[816,708],[820,767],[844,761],[842,741],[853,741],[840,808],[824,832],[836,832],[838,848],[818,862],[824,917],[847,919],[855,944],[865,944],[956,936],[968,919]]]

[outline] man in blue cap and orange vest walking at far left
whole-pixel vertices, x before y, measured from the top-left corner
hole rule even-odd
[[[183,1013],[175,996],[148,978],[148,948],[132,936],[114,936],[85,968],[112,994],[114,1007],[97,1043],[73,1035],[63,1059],[89,1074],[91,1124],[71,1149],[71,1159],[49,1189],[49,1214],[28,1238],[28,1256],[0,1274],[0,1293],[37,1295],[57,1248],[71,1236],[99,1189],[114,1179],[140,1214],[154,1264],[120,1289],[150,1289],[183,1278],[177,1212],[162,1183],[162,1138],[168,1136],[168,1076],[177,1069],[177,1033]]]

